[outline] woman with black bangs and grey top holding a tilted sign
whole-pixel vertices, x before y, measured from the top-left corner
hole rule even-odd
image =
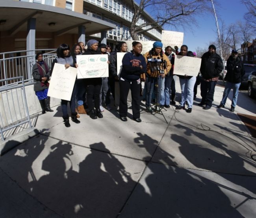
[[[74,64],[73,57],[70,55],[70,48],[69,45],[67,44],[61,44],[59,45],[57,49],[57,58],[55,58],[52,62],[52,67],[51,67],[51,74],[54,69],[54,64],[63,64],[65,65],[65,68],[71,67],[77,67],[77,64]],[[79,124],[80,121],[76,117],[76,103],[75,103],[75,98],[76,98],[76,83],[74,84],[73,92],[71,95],[70,101],[63,100],[61,99],[61,110],[63,113],[63,120],[65,123],[65,127],[70,127],[69,123],[69,114],[68,114],[68,109],[67,109],[67,104],[69,102],[70,109],[71,109],[71,120],[75,122],[76,124]]]

